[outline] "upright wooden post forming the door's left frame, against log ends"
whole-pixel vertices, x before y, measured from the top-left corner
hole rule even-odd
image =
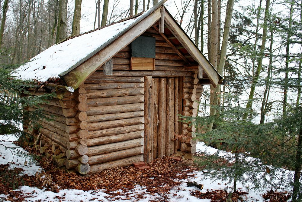
[[[145,83],[144,83],[144,89],[145,89],[145,137],[144,137],[144,161],[146,163],[150,163],[152,161],[152,141],[153,141],[153,134],[152,134],[152,91],[151,91],[151,85],[152,85],[152,77],[151,76],[145,76]]]

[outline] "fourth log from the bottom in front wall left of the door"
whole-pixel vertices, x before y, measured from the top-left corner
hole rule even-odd
[[[109,143],[114,143],[114,142],[121,142],[121,141],[126,141],[126,140],[137,139],[140,137],[144,137],[144,131],[135,131],[135,132],[130,132],[130,133],[88,139],[87,146],[92,147],[92,146],[96,146],[96,145],[109,144]]]

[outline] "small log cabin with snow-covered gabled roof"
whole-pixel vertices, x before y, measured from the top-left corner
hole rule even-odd
[[[53,120],[41,120],[39,134],[64,152],[67,169],[92,174],[196,151],[196,128],[178,115],[196,117],[203,85],[223,79],[164,2],[66,38],[17,69],[40,84],[33,94],[56,93],[41,105]],[[33,124],[24,121],[27,133]]]

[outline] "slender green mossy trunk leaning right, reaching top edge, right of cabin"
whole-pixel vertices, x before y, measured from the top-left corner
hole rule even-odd
[[[262,44],[261,44],[261,48],[260,48],[260,52],[259,52],[258,66],[257,66],[257,69],[256,69],[255,76],[252,79],[252,86],[251,86],[251,90],[250,90],[250,93],[249,93],[249,99],[248,99],[247,104],[246,104],[246,109],[251,109],[252,108],[253,98],[254,98],[254,94],[255,94],[255,88],[256,88],[256,84],[257,84],[257,81],[259,79],[260,71],[261,71],[261,68],[262,68],[262,60],[263,60],[263,57],[264,57],[265,42],[266,42],[266,35],[267,35],[267,21],[268,21],[268,17],[269,17],[268,10],[269,10],[270,3],[271,3],[270,0],[266,0],[264,23],[263,23]],[[247,112],[244,113],[243,114],[243,120],[246,120],[248,115],[249,115],[249,113],[247,113]]]

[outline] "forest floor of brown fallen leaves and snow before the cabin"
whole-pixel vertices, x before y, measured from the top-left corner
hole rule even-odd
[[[147,164],[151,168],[117,167],[82,176],[57,169],[37,149],[18,146],[13,136],[0,136],[0,201],[287,201],[281,190],[249,190],[237,184],[204,177],[193,160],[169,157]],[[6,148],[6,149],[5,149]],[[197,144],[194,158],[217,150]],[[26,155],[35,154],[34,158]],[[203,188],[188,187],[188,181]]]

